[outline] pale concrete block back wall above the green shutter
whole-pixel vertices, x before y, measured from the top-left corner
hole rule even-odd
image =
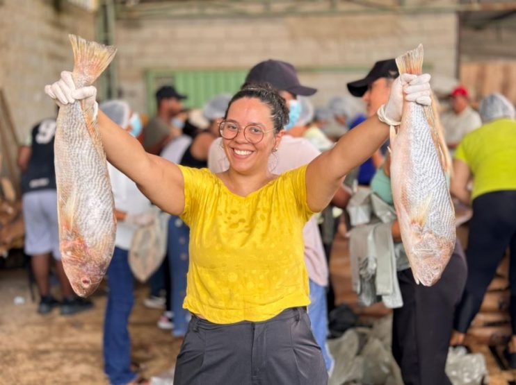
[[[122,96],[141,111],[147,69],[249,69],[268,58],[296,65],[302,82],[319,88],[317,105],[346,92],[376,60],[419,43],[435,76],[455,76],[457,22],[454,12],[124,19],[116,23],[115,65]]]

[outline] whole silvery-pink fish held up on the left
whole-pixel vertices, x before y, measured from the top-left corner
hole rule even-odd
[[[92,85],[116,48],[68,35],[77,88]],[[75,101],[59,108],[54,139],[59,248],[72,289],[90,296],[102,282],[115,248],[115,204],[94,108]]]

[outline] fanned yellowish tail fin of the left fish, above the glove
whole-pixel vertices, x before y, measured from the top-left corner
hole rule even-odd
[[[115,57],[115,46],[88,42],[77,35],[68,35],[74,51],[72,76],[76,87],[92,85]],[[79,84],[78,84],[79,83]]]

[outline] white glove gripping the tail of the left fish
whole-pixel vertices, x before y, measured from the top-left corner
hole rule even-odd
[[[45,94],[54,99],[59,107],[75,101],[84,101],[84,109],[93,108],[94,116],[97,115],[97,89],[92,85],[76,88],[70,71],[61,72],[61,79],[51,85],[45,85]]]

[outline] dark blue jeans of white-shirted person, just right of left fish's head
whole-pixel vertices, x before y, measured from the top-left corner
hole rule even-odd
[[[128,252],[115,247],[108,267],[108,302],[104,319],[104,372],[113,385],[127,384],[136,378],[131,366],[131,339],[127,324],[134,304],[134,277],[127,260]]]

